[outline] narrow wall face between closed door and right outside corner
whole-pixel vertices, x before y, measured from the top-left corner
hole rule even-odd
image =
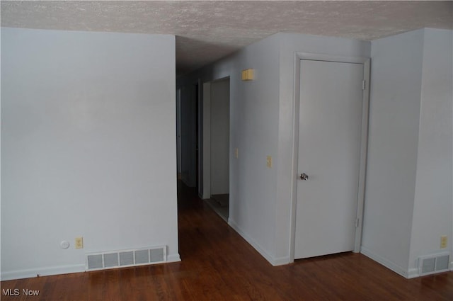
[[[418,149],[423,30],[372,41],[362,252],[405,275]]]

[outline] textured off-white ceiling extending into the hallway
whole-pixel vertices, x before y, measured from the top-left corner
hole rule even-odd
[[[1,1],[1,26],[176,35],[177,74],[278,32],[374,40],[453,28],[452,1]]]

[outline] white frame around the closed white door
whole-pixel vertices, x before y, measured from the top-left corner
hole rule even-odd
[[[337,55],[321,55],[306,52],[294,53],[294,108],[293,108],[293,137],[292,137],[292,200],[290,214],[290,239],[289,239],[289,262],[294,262],[294,247],[296,239],[296,209],[297,209],[297,181],[298,181],[298,153],[299,153],[299,106],[300,106],[300,61],[316,60],[325,62],[345,62],[363,64],[363,89],[362,125],[360,136],[360,167],[357,193],[357,227],[355,228],[355,242],[353,252],[360,252],[362,244],[363,207],[365,203],[365,176],[367,169],[367,146],[368,146],[368,118],[369,118],[369,74],[370,59],[368,57],[343,57]]]

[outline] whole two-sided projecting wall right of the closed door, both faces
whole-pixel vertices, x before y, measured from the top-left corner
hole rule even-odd
[[[452,249],[452,31],[372,42],[362,252],[406,277]]]

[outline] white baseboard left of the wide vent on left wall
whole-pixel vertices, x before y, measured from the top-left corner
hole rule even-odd
[[[79,273],[85,271],[84,264],[76,264],[73,266],[52,266],[51,268],[31,268],[29,270],[18,270],[11,272],[1,272],[1,281],[33,278],[39,276],[52,276],[69,273]]]

